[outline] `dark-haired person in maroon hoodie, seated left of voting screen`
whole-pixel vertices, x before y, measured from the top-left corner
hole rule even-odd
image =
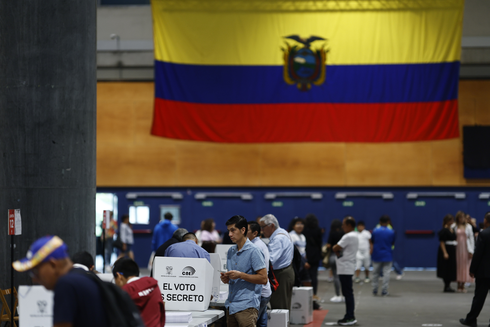
[[[140,309],[141,318],[147,327],[165,326],[165,307],[156,279],[139,277],[136,262],[124,257],[118,259],[112,268],[116,285],[126,291]]]

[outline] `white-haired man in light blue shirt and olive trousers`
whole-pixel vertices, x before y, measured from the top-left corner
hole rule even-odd
[[[291,310],[293,296],[293,241],[289,233],[279,226],[277,218],[268,214],[259,220],[259,225],[265,237],[269,237],[270,262],[279,286],[270,296],[272,309]]]

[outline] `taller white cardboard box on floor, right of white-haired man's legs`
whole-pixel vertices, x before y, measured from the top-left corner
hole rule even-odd
[[[313,287],[293,287],[291,324],[306,325],[313,321]]]

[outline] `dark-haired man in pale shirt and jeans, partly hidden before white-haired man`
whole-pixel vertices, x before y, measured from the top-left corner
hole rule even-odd
[[[259,237],[260,225],[256,221],[252,220],[248,222],[248,232],[246,236],[248,239],[255,244],[262,253],[264,253],[264,261],[266,262],[266,270],[269,273],[269,249],[267,245]],[[260,295],[260,307],[257,318],[257,327],[267,327],[267,303],[269,303],[270,295],[272,291],[270,290],[270,283],[262,286],[262,294]]]

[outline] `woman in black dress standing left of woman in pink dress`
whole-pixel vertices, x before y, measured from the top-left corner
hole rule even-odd
[[[447,214],[439,231],[439,251],[437,253],[437,277],[444,280],[444,292],[454,292],[449,287],[456,280],[456,233],[451,228],[454,216]]]

